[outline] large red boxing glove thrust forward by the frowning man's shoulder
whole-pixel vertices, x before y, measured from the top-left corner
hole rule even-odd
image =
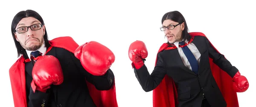
[[[96,41],[84,43],[74,54],[84,69],[95,76],[104,75],[115,61],[113,52]]]

